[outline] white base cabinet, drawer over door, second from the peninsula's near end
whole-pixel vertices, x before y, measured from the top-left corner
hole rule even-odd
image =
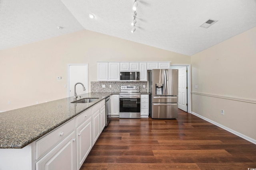
[[[92,149],[92,108],[78,115],[76,123],[76,170],[79,170]]]

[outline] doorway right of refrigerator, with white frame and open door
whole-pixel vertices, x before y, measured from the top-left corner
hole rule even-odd
[[[191,113],[190,64],[172,64],[171,69],[179,70],[178,108]]]

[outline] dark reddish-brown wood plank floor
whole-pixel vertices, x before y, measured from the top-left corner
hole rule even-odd
[[[256,145],[190,113],[111,120],[80,170],[248,170]]]

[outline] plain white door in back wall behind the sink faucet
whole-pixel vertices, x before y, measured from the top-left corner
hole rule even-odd
[[[74,96],[74,85],[77,82],[84,84],[85,91],[81,84],[76,85],[76,94],[88,93],[88,64],[68,64],[69,86],[68,96]]]

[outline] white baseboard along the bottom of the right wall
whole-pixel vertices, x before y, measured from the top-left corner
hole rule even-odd
[[[234,131],[234,130],[232,130],[232,129],[226,127],[226,126],[223,126],[223,125],[221,125],[221,124],[219,124],[219,123],[217,123],[217,122],[215,122],[215,121],[212,121],[212,120],[210,120],[210,119],[207,119],[206,117],[203,117],[203,116],[201,116],[201,115],[198,115],[197,113],[195,113],[195,112],[193,112],[193,111],[191,112],[191,114],[193,114],[193,115],[195,115],[195,116],[197,116],[197,117],[200,117],[201,119],[204,119],[204,120],[206,120],[206,121],[208,121],[208,122],[210,122],[210,123],[212,123],[212,124],[214,124],[214,125],[216,125],[216,126],[222,128],[222,129],[225,129],[226,131],[229,131],[230,133],[233,133],[234,135],[237,135],[237,136],[239,136],[239,137],[245,139],[246,141],[249,141],[249,142],[251,142],[251,143],[256,144],[256,140],[255,140],[255,139],[252,139],[252,138],[250,138],[250,137],[248,137],[248,136],[246,136],[246,135],[243,135],[242,133],[239,133],[239,132],[237,132],[237,131]]]

